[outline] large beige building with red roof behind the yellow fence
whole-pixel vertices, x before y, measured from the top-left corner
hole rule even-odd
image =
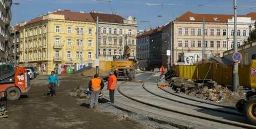
[[[205,52],[212,52],[213,56],[222,57],[224,51],[233,48],[233,15],[186,12],[162,29],[162,32],[169,34],[171,38],[173,63],[178,62],[182,52],[203,51],[203,17],[205,18]],[[248,26],[253,26],[255,19],[256,13],[238,16],[238,45],[247,40],[250,31]],[[163,39],[168,42],[167,35]],[[167,42],[163,43],[163,51],[168,48]],[[165,61],[168,57],[163,58],[162,60]]]

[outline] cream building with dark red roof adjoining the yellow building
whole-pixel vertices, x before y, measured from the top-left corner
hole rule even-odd
[[[91,12],[96,21],[99,17],[99,60],[113,60],[114,54],[123,54],[124,46],[130,48],[130,55],[136,56],[136,18],[127,19],[117,14]]]

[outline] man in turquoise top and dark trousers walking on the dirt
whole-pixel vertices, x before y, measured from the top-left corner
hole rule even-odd
[[[50,81],[50,83],[49,83]],[[59,79],[57,75],[54,74],[54,71],[51,72],[51,75],[49,75],[46,84],[49,84],[49,89],[50,89],[50,95],[55,97],[55,91],[56,91],[56,81],[58,83],[58,86],[60,84]]]

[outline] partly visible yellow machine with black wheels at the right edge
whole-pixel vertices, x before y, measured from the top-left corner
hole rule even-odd
[[[256,125],[256,54],[252,55],[250,70],[250,83],[251,88],[254,90],[246,92],[246,100],[239,100],[236,103],[236,109],[238,112],[243,113],[251,124]]]

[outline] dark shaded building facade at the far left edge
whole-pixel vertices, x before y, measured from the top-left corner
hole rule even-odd
[[[12,0],[0,1],[0,62],[11,62],[11,26]]]

